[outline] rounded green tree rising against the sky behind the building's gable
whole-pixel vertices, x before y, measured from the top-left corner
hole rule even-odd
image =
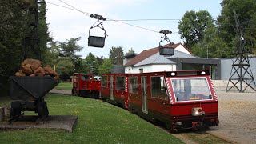
[[[178,34],[184,40],[184,45],[191,49],[194,44],[202,42],[207,26],[213,22],[213,18],[206,10],[187,11],[178,22]]]

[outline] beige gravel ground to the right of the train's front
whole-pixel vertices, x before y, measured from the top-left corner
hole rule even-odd
[[[256,143],[256,93],[217,91],[219,126],[208,131],[235,143]]]

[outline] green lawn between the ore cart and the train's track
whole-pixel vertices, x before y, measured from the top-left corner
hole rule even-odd
[[[100,100],[48,94],[50,115],[77,115],[73,133],[64,130],[2,130],[0,143],[182,143],[129,111]]]

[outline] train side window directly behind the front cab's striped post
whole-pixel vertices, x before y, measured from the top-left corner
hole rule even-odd
[[[163,100],[168,100],[166,93],[166,82],[164,77],[151,77],[151,96],[152,98],[159,98]]]

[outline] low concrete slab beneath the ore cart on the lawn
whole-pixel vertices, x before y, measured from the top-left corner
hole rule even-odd
[[[75,115],[50,115],[43,121],[37,124],[37,116],[24,116],[21,121],[11,122],[7,121],[0,122],[0,130],[5,129],[61,129],[72,132],[78,121],[78,116]]]

